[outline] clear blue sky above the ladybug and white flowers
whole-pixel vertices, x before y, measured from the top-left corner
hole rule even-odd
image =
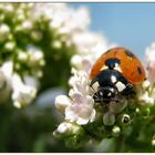
[[[87,7],[92,31],[102,32],[110,42],[131,49],[144,60],[146,46],[155,42],[154,3],[71,3]]]

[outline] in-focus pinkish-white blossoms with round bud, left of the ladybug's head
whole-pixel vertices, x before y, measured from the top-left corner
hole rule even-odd
[[[83,125],[95,120],[94,101],[89,86],[89,76],[85,72],[72,70],[70,79],[72,86],[69,96],[61,95],[55,99],[55,106],[65,114],[65,120]]]

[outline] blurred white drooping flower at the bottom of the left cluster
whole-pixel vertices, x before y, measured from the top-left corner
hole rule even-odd
[[[35,97],[37,90],[30,85],[25,85],[18,74],[12,76],[12,100],[16,107],[20,108],[28,105]]]

